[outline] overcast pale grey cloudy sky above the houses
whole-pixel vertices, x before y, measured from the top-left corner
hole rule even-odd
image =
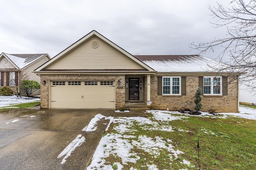
[[[226,6],[230,0],[221,0]],[[0,53],[54,57],[92,30],[136,55],[188,55],[226,34],[210,24],[216,0],[0,0]],[[214,53],[204,57],[214,59]]]

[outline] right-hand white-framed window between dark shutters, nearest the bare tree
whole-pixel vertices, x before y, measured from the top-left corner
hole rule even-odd
[[[221,77],[204,77],[204,94],[205,95],[220,95],[222,94]]]

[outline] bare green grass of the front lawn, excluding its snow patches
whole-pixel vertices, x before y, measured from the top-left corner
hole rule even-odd
[[[154,119],[152,119],[153,121]],[[156,121],[156,120],[154,120]],[[154,131],[148,130],[154,125],[138,125],[134,123],[130,129],[133,135],[138,137],[146,135],[147,137],[162,137],[166,146],[172,145],[175,150],[181,150],[184,154],[179,154],[178,158],[170,159],[168,150],[163,149],[158,156],[152,156],[142,149],[134,147],[132,153],[140,156],[136,163],[123,164],[123,169],[130,167],[142,169],[147,164],[155,164],[158,169],[188,169],[198,168],[198,152],[196,151],[197,140],[200,145],[200,169],[207,170],[248,170],[256,167],[256,121],[230,117],[228,119],[207,118],[207,117],[188,117],[187,119],[174,121],[161,121],[161,124],[169,124],[174,131]],[[116,133],[112,124],[108,133]],[[183,129],[185,131],[178,131]],[[203,129],[203,130],[202,130]],[[208,132],[208,133],[205,133]],[[168,142],[170,139],[172,142]],[[137,140],[136,138],[131,139]],[[216,153],[216,154],[215,154]],[[182,160],[191,162],[190,166],[181,164]],[[105,158],[108,164],[121,162],[118,156]]]

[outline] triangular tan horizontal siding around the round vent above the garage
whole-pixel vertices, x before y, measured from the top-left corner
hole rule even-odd
[[[93,41],[99,42],[99,47],[91,46]],[[92,37],[74,51],[62,57],[59,61],[47,69],[144,69],[140,64],[102,41],[98,37]]]

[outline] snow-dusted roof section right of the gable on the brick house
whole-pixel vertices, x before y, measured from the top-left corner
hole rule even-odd
[[[135,55],[158,72],[209,72],[221,64],[200,55]]]

